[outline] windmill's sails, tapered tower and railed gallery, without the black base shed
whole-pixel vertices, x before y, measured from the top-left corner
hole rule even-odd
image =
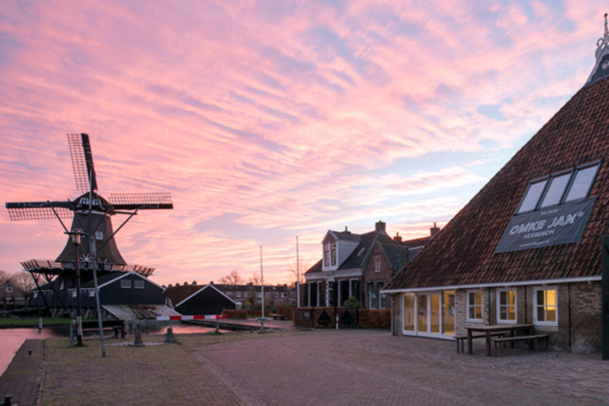
[[[91,276],[93,268],[96,268],[102,275],[104,272],[114,271],[135,271],[146,277],[152,275],[154,268],[128,265],[125,262],[116,247],[114,235],[139,210],[173,208],[169,193],[110,194],[106,200],[97,194],[97,179],[89,136],[84,133],[68,134],[68,145],[76,178],[76,188],[82,192],[82,195],[74,200],[6,203],[11,220],[57,219],[65,233],[71,234],[62,253],[54,261],[32,259],[21,262],[24,270],[29,271],[34,278],[38,292],[48,308],[48,300],[40,289],[41,277],[48,283],[48,289],[55,294],[59,306],[66,308],[67,289],[64,295],[60,295],[55,282],[60,282],[60,287],[63,287],[64,282],[73,286],[75,281],[72,276],[75,273],[79,274],[80,271],[86,274],[83,275],[85,277]],[[113,231],[110,218],[115,214],[127,214],[128,218],[116,231]],[[72,218],[72,231],[68,231],[62,220],[70,217]],[[88,236],[88,242],[83,245],[73,243],[71,237],[75,233]],[[80,281],[80,278],[77,279]]]

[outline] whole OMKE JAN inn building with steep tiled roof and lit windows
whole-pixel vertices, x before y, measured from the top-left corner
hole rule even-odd
[[[385,287],[393,334],[452,339],[534,324],[555,349],[601,348],[609,233],[609,35],[588,82]]]

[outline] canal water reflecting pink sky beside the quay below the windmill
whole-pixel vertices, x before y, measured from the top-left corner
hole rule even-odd
[[[166,326],[158,326],[155,329],[150,330],[150,334],[165,334],[167,332]],[[206,333],[214,331],[213,328],[194,326],[191,324],[175,324],[172,326],[174,334],[196,334]],[[8,368],[10,362],[13,360],[18,349],[23,344],[23,341],[27,338],[34,338],[42,340],[44,338],[57,338],[65,337],[69,339],[69,326],[61,327],[45,327],[42,329],[40,334],[37,328],[21,328],[21,329],[0,329],[0,376],[4,374],[6,368]],[[112,333],[106,334],[106,337],[114,337]],[[143,335],[145,341],[146,335]]]

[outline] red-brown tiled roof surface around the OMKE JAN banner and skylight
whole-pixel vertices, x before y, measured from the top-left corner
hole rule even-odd
[[[609,233],[609,163],[579,243],[495,254],[530,180],[609,158],[609,79],[580,89],[384,289],[576,278],[601,274]]]

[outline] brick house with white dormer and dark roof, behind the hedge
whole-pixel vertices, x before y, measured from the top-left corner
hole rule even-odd
[[[432,233],[436,233],[432,228]],[[381,288],[431,239],[392,239],[385,223],[375,231],[355,234],[328,230],[322,240],[322,259],[305,272],[304,306],[342,306],[350,296],[367,309],[387,309]]]

